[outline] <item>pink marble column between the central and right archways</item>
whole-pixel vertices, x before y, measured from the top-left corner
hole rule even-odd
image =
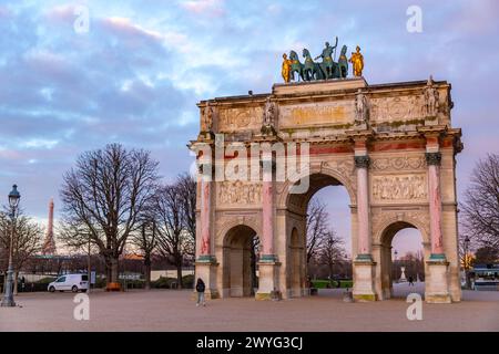
[[[357,167],[358,254],[365,256],[370,254],[369,196],[368,196],[368,178],[367,178],[369,157],[355,156],[355,166]]]

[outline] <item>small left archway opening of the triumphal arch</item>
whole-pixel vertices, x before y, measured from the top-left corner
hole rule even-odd
[[[227,231],[223,246],[224,296],[242,298],[255,294],[258,249],[259,239],[251,227],[238,225]]]

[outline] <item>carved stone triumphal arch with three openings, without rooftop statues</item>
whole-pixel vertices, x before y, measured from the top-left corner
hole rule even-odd
[[[354,299],[390,298],[391,239],[410,227],[424,240],[426,301],[460,301],[456,154],[462,145],[451,125],[449,83],[317,80],[198,107],[200,135],[190,144],[200,168],[196,277],[208,296],[252,295],[253,287],[256,299],[306,295],[307,204],[318,189],[343,185]]]

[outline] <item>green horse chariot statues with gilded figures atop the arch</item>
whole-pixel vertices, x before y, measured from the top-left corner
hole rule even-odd
[[[345,79],[348,75],[348,62],[353,64],[354,76],[361,76],[364,56],[360,53],[360,48],[357,45],[356,52],[352,53],[350,59],[347,59],[347,46],[343,45],[338,61],[336,62],[337,46],[338,38],[336,38],[334,46],[330,46],[329,42],[326,42],[322,54],[317,55],[315,59],[312,59],[310,52],[305,48],[302,52],[303,58],[305,58],[304,63],[299,61],[299,56],[295,51],[289,52],[289,58],[286,53],[283,54],[281,74],[284,82]],[[318,59],[322,59],[320,63],[314,62],[314,60]]]

